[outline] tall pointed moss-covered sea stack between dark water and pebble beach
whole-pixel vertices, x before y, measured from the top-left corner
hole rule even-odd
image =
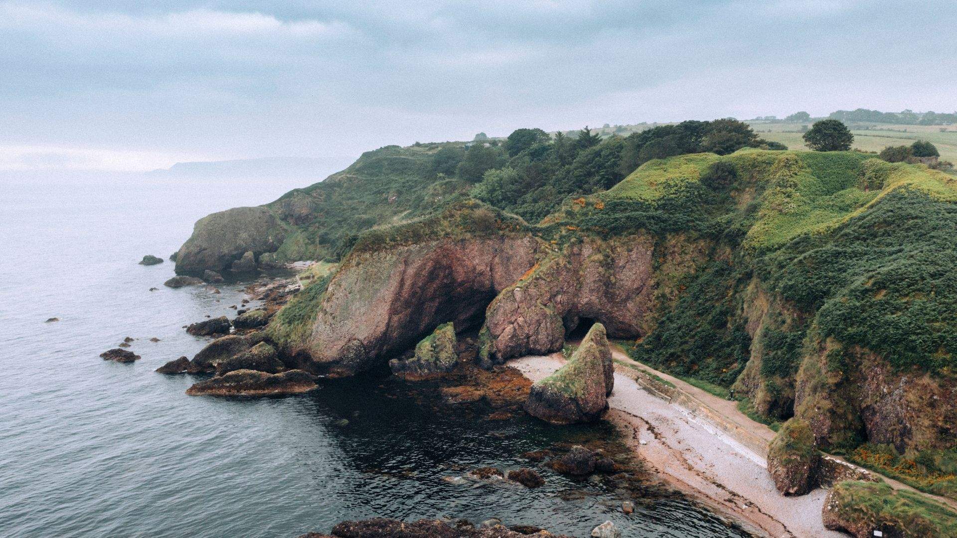
[[[605,327],[591,325],[568,363],[532,385],[525,411],[553,424],[597,420],[608,409],[613,373]]]

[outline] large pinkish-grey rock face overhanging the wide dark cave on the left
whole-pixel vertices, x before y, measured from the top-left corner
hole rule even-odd
[[[493,235],[353,255],[329,283],[305,350],[316,370],[350,375],[439,324],[476,325],[539,248],[533,237]]]

